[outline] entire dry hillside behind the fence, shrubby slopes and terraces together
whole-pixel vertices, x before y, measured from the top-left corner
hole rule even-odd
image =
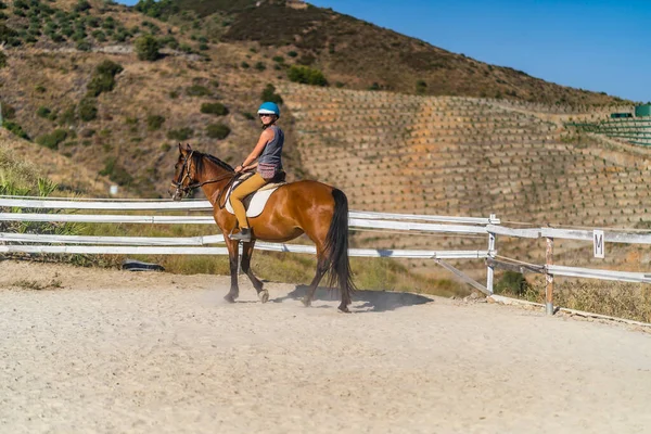
[[[355,207],[595,225],[647,219],[634,209],[644,200],[643,181],[626,190],[643,179],[647,157],[585,137],[574,143],[563,128],[571,117],[603,117],[608,105],[591,104],[617,99],[314,7],[164,1],[143,2],[139,12],[101,1],[9,4],[0,24],[5,119],[132,194],[167,194],[179,141],[240,162],[257,138],[253,113],[271,85],[284,100],[290,179],[340,186]],[[163,46],[155,61],[140,60],[135,49],[145,35]],[[384,63],[374,63],[378,53]],[[288,72],[307,64],[331,86],[289,82]],[[419,80],[426,94],[413,94]],[[360,90],[373,82],[394,91]],[[482,94],[492,98],[475,98]],[[580,205],[564,199],[573,190],[574,199],[584,195]],[[608,209],[627,195],[620,215]],[[604,205],[593,205],[597,197]]]

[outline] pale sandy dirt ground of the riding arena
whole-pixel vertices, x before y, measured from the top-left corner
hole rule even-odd
[[[0,263],[2,433],[642,433],[651,334],[486,303]]]

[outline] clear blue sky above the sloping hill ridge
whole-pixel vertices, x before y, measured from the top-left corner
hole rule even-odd
[[[648,0],[308,2],[547,81],[651,101]]]

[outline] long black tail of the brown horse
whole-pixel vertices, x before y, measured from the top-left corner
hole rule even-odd
[[[332,196],[334,214],[326,237],[329,285],[339,286],[342,292],[342,305],[347,306],[350,304],[352,293],[356,290],[348,260],[348,199],[337,189],[332,190]]]

